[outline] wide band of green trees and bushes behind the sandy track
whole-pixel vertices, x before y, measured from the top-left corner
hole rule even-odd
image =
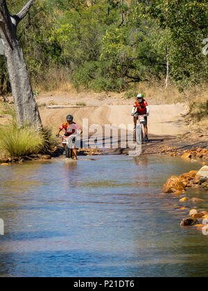
[[[25,0],[8,0],[12,14]],[[122,91],[170,78],[181,90],[207,80],[207,0],[36,0],[18,37],[34,83],[57,87],[60,71],[76,89]],[[0,56],[0,94],[10,91]],[[57,76],[48,78],[57,68]],[[47,77],[46,77],[47,76]]]

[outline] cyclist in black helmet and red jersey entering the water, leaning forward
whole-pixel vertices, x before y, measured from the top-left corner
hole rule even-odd
[[[64,143],[65,139],[67,139],[67,137],[71,136],[72,134],[76,133],[77,131],[80,132],[80,134],[83,133],[83,130],[81,130],[81,128],[79,127],[79,125],[75,122],[73,122],[73,116],[72,115],[68,115],[67,116],[67,122],[63,123],[61,125],[61,127],[59,128],[56,136],[60,136],[60,132],[62,130],[65,130],[65,134],[64,136],[62,137],[62,146],[64,148],[64,151],[65,151],[65,148],[66,148],[66,143]],[[75,139],[76,137],[74,137]],[[77,150],[76,150],[76,146],[73,145],[73,153],[74,153],[74,156],[75,156],[75,159],[77,159]]]

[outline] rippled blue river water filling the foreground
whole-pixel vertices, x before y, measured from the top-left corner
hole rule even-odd
[[[207,236],[181,228],[189,209],[161,192],[200,167],[158,156],[1,166],[0,276],[207,276]]]

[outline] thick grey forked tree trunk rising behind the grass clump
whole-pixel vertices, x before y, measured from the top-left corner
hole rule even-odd
[[[17,25],[26,16],[33,3],[34,0],[28,1],[17,15],[11,16],[6,0],[0,0],[0,33],[6,55],[17,123],[19,126],[30,123],[38,130],[42,130],[40,113],[31,87],[24,55],[17,39]]]

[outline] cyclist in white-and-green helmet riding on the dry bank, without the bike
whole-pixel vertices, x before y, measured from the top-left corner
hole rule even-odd
[[[137,111],[135,112],[135,109],[137,109]],[[134,104],[134,108],[132,109],[132,116],[134,116],[134,123],[135,123],[135,127],[134,130],[136,130],[137,127],[137,120],[138,120],[138,116],[139,115],[144,115],[144,132],[145,132],[145,141],[148,142],[148,120],[147,120],[147,116],[150,113],[150,109],[148,107],[148,103],[146,102],[146,100],[144,100],[144,94],[139,94],[137,95],[137,100],[135,101]]]

